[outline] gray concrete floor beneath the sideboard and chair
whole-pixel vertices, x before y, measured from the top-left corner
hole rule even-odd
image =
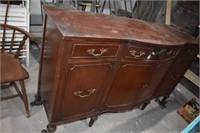
[[[37,47],[32,47],[37,51]],[[31,52],[34,53],[34,52]],[[37,52],[36,52],[37,53]],[[38,59],[38,56],[36,56]],[[30,78],[26,80],[29,102],[37,91],[38,62],[30,55],[30,66],[26,67]],[[2,92],[7,93],[7,92]],[[56,133],[172,133],[182,131],[188,123],[177,114],[177,109],[195,97],[181,84],[168,99],[167,108],[161,109],[154,101],[143,111],[135,109],[123,113],[105,113],[99,116],[93,127],[88,127],[89,119],[57,126]],[[30,107],[31,117],[24,115],[20,98],[1,102],[1,133],[39,133],[48,124],[43,106]]]

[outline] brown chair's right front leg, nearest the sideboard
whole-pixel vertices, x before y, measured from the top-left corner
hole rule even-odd
[[[28,108],[28,98],[27,98],[27,95],[26,95],[26,88],[25,88],[25,85],[24,85],[24,81],[21,80],[19,81],[20,85],[21,85],[21,91],[22,91],[22,100],[23,100],[23,103],[24,103],[24,106],[25,106],[25,109],[26,109],[26,117],[29,118],[30,117],[30,111],[29,111],[29,108]]]

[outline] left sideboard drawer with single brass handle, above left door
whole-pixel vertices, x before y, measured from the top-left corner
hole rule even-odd
[[[71,58],[115,58],[119,49],[119,44],[74,44]]]

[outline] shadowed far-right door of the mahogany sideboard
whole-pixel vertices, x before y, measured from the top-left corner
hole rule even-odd
[[[175,59],[172,66],[168,70],[165,78],[158,86],[155,93],[156,97],[170,95],[176,85],[180,82],[181,78],[183,78],[197,53],[197,48],[190,47],[186,47],[181,51],[180,55]]]

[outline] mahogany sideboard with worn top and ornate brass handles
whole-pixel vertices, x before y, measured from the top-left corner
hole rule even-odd
[[[144,109],[166,98],[198,53],[179,29],[136,19],[44,7],[38,93],[54,132],[104,112]],[[163,97],[163,99],[159,99]]]

